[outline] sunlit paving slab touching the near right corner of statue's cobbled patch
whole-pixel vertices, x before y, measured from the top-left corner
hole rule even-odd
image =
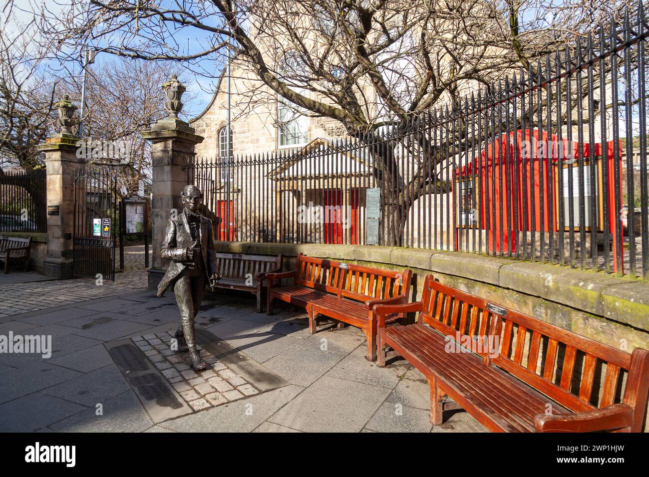
[[[252,432],[302,389],[287,385],[160,425],[177,432]]]

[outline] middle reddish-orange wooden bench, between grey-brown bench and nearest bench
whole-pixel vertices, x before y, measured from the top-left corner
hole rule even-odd
[[[367,359],[376,360],[376,315],[378,303],[406,303],[412,272],[393,272],[362,265],[334,262],[298,254],[295,270],[269,273],[266,311],[273,313],[273,299],[306,308],[309,332],[315,333],[317,315],[358,326],[367,336]],[[275,280],[292,278],[289,286]]]

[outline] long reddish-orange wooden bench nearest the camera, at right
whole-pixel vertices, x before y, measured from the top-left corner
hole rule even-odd
[[[463,408],[495,432],[641,431],[649,390],[644,349],[615,349],[432,275],[421,301],[375,312],[378,365],[393,354],[389,346],[426,376],[435,425],[444,410]],[[386,315],[408,312],[419,313],[417,323],[386,326]]]

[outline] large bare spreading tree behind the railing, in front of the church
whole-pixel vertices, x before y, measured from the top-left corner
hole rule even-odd
[[[416,149],[428,152],[406,178],[395,156],[403,146],[399,133],[425,112],[458,108],[476,86],[493,94],[499,80],[520,69],[536,75],[538,60],[570,49],[600,21],[620,18],[622,6],[584,0],[73,0],[55,21],[43,12],[42,30],[66,48],[95,42],[114,55],[175,60],[205,73],[206,62],[222,64],[234,55],[258,82],[250,101],[279,96],[295,114],[335,119],[350,136],[378,144],[374,176],[395,198],[383,215],[398,245],[408,209],[422,195],[448,191],[439,166],[469,140],[461,124],[452,141],[430,144],[421,135]],[[387,125],[395,139],[376,141]]]

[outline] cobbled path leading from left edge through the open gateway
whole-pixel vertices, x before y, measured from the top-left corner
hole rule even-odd
[[[119,251],[116,251],[119,253]],[[16,272],[19,273],[19,272]],[[121,295],[147,287],[144,268],[144,246],[127,247],[124,251],[124,272],[115,274],[115,281],[95,278],[27,282],[0,286],[0,318],[35,312],[80,301]]]

